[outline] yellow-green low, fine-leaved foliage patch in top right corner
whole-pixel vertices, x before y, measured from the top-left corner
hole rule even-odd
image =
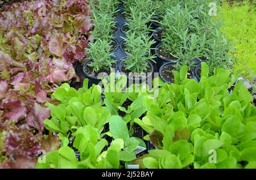
[[[255,1],[254,1],[255,2]],[[222,33],[229,40],[233,41],[233,71],[241,72],[243,76],[249,78],[256,73],[256,13],[253,3],[247,1],[240,3],[223,3],[220,7],[218,18],[221,18],[224,27]]]

